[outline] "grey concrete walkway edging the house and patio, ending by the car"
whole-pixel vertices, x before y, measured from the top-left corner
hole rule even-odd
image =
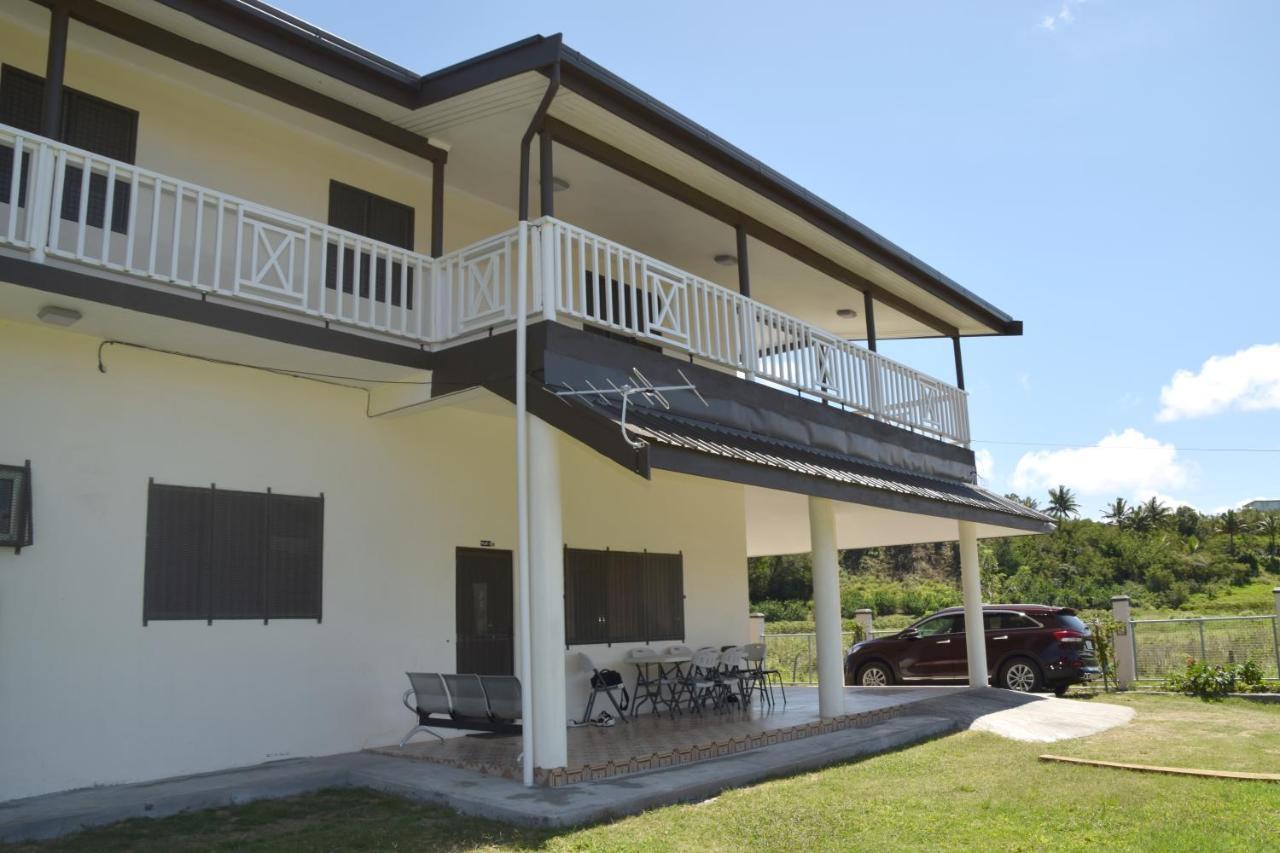
[[[897,749],[965,729],[1042,739],[1082,736],[1121,725],[1129,715],[1098,701],[1078,702],[1007,690],[969,688],[847,688],[849,710],[901,712],[879,722],[732,752],[617,779],[525,788],[518,781],[429,761],[372,752],[242,767],[132,785],[90,788],[0,803],[0,841],[54,838],[131,817],[291,797],[324,788],[362,786],[466,815],[541,826],[575,826],[678,802],[698,802],[728,788]],[[799,720],[814,689],[797,688],[787,713]],[[906,697],[913,697],[906,701]],[[887,703],[887,704],[886,704]],[[782,719],[782,717],[777,717]],[[1000,725],[991,726],[996,720]],[[765,725],[756,720],[722,725]],[[772,724],[769,724],[772,725]],[[804,725],[803,722],[800,725]],[[657,729],[657,726],[652,726]],[[599,730],[613,734],[620,726]],[[672,729],[678,731],[678,726]],[[644,738],[640,730],[630,735]],[[627,736],[627,735],[625,735]]]

